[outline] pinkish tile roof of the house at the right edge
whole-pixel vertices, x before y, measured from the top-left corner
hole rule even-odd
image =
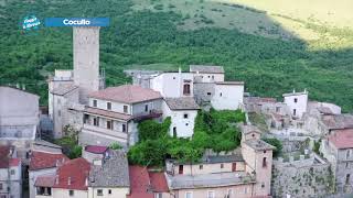
[[[338,130],[328,138],[336,148],[353,147],[353,129]]]

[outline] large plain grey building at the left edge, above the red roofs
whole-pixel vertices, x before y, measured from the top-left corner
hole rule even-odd
[[[40,122],[39,96],[0,86],[0,144],[26,147],[36,138]]]

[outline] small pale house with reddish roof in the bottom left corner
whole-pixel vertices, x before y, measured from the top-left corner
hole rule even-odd
[[[10,146],[0,146],[0,197],[22,197],[22,163]]]

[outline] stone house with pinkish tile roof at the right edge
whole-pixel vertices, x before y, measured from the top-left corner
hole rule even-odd
[[[328,135],[321,142],[320,152],[332,165],[336,191],[353,193],[353,129]]]

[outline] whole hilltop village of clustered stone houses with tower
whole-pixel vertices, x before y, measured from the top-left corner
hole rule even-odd
[[[284,94],[280,101],[255,97],[245,92],[244,81],[225,80],[223,67],[213,65],[126,70],[131,85],[106,87],[99,69],[99,28],[75,26],[73,34],[74,68],[55,70],[47,80],[47,108],[40,108],[39,97],[23,87],[0,87],[1,198],[353,193],[353,116],[339,106],[312,101],[308,90]],[[217,121],[214,114],[223,117]],[[154,123],[157,130],[146,130],[143,123]],[[156,132],[156,139],[165,131],[161,140],[181,147],[199,142],[192,142],[190,153],[176,147],[180,151],[160,156],[159,166],[131,161],[131,150],[152,136],[146,131]],[[214,139],[214,145],[200,143],[200,134],[210,135],[206,143]],[[66,146],[63,140],[75,145]],[[215,150],[223,140],[229,146]],[[154,148],[147,153],[150,158],[158,155]],[[135,160],[147,155],[133,154]]]

